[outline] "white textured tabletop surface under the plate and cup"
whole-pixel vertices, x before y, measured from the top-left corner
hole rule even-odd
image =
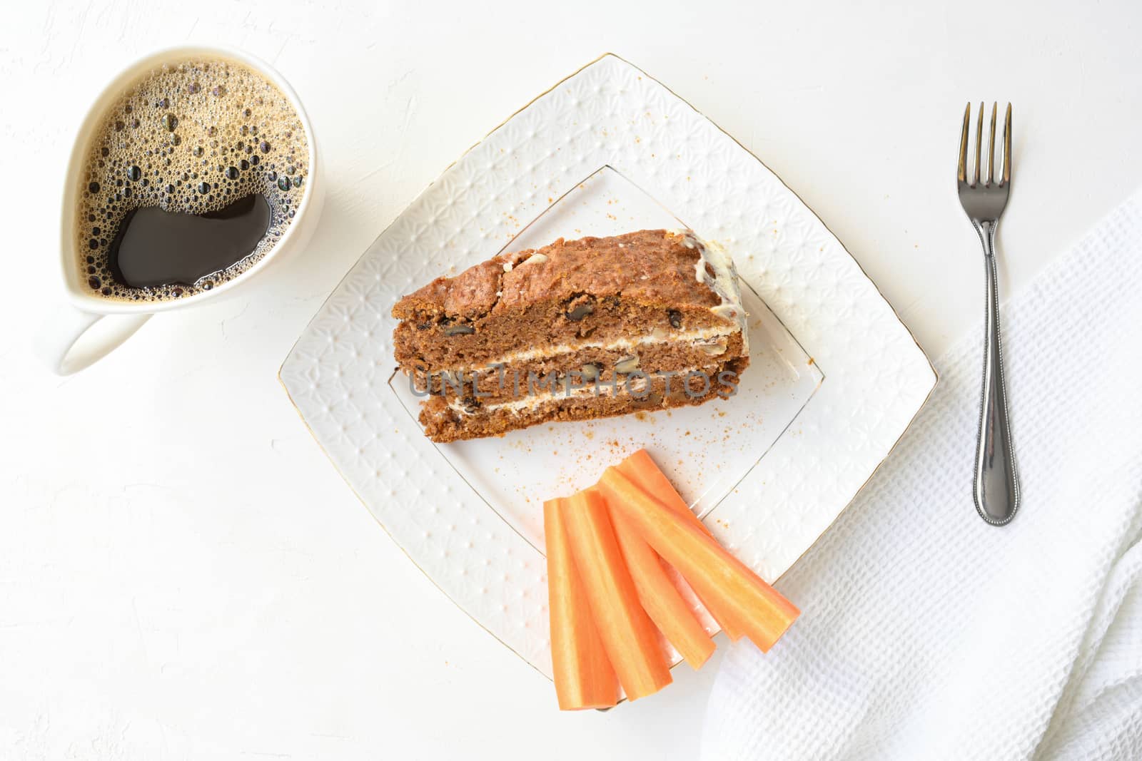
[[[6,3],[0,759],[693,755],[714,664],[560,715],[377,527],[276,369],[416,193],[604,50],[758,154],[939,355],[982,303],[951,185],[967,97],[1015,102],[1011,288],[1142,180],[1142,7],[992,5]],[[29,342],[58,294],[75,120],[130,59],[179,42],[290,79],[327,162],[322,226],[246,297],[158,317],[56,379]]]

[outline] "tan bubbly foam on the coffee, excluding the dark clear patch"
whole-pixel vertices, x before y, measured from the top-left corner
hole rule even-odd
[[[252,267],[293,219],[309,179],[305,128],[284,94],[248,66],[190,58],[142,74],[105,112],[79,177],[75,236],[86,288],[107,298],[169,300],[208,291]],[[116,282],[110,246],[132,210],[206,213],[251,193],[270,229],[241,261],[194,284]]]

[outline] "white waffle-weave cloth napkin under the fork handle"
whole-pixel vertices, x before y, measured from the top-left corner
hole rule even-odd
[[[705,759],[1142,759],[1142,193],[1003,318],[1014,521],[972,504],[980,327],[781,580],[786,638],[727,653]]]

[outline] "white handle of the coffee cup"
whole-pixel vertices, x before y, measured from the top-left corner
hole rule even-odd
[[[40,327],[35,351],[54,373],[71,375],[107,356],[150,318],[148,314],[99,315],[65,303]]]

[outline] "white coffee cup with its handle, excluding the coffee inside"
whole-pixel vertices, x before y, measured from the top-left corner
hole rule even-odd
[[[106,115],[107,108],[138,78],[164,63],[178,63],[195,57],[216,57],[243,64],[265,76],[289,99],[305,129],[309,146],[309,175],[306,178],[305,192],[300,202],[293,207],[293,219],[278,243],[249,269],[211,290],[169,301],[135,302],[100,297],[87,286],[87,273],[81,266],[82,257],[77,248],[79,241],[75,235],[79,175],[83,170],[83,162],[87,161],[90,141],[96,137],[99,121]],[[71,160],[67,162],[61,219],[59,266],[67,303],[61,305],[56,314],[41,327],[35,339],[37,353],[53,371],[69,375],[102,359],[130,338],[153,314],[195,307],[208,299],[223,298],[239,289],[248,288],[251,278],[282,259],[288,251],[299,251],[305,246],[317,225],[324,189],[317,143],[309,119],[293,88],[270,64],[239,50],[211,47],[169,48],[135,62],[107,84],[80,122],[79,136],[75,138]]]

